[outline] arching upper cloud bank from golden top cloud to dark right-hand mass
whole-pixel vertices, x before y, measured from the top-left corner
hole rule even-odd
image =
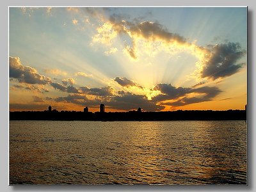
[[[124,43],[124,52],[133,60],[138,59],[138,51],[146,50],[146,48],[141,49],[140,40],[144,40],[147,45],[161,42],[157,46],[165,47],[163,50],[170,53],[186,51],[198,59],[195,63],[198,77],[212,81],[235,74],[245,64],[237,63],[246,54],[238,43],[228,42],[202,47],[195,42],[189,42],[177,33],[168,31],[158,22],[141,21],[141,19],[129,21],[125,20],[124,15],[114,14],[109,19],[105,19],[104,24],[97,31],[98,33],[93,36],[93,42],[106,45],[111,45],[118,35],[128,37],[128,42],[132,43],[131,45]]]

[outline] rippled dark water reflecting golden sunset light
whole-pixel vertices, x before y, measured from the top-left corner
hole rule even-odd
[[[10,121],[10,184],[246,184],[244,121]]]

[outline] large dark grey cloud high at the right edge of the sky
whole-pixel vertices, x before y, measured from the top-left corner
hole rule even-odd
[[[235,74],[244,63],[237,63],[246,54],[238,43],[208,45],[210,51],[209,60],[205,61],[201,72],[202,77],[215,80]]]

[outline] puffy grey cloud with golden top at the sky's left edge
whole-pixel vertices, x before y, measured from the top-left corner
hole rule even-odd
[[[38,74],[35,68],[22,65],[18,57],[9,57],[9,61],[10,78],[15,78],[20,83],[47,84],[51,81],[51,78]]]

